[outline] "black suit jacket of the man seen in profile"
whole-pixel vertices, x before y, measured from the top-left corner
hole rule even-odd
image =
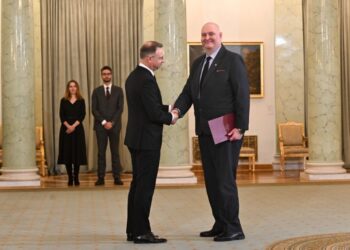
[[[125,145],[133,149],[157,150],[162,144],[163,124],[172,116],[151,72],[137,66],[125,82],[128,124]]]

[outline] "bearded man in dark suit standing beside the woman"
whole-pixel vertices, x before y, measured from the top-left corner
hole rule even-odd
[[[106,174],[106,149],[109,146],[112,156],[112,172],[115,185],[123,185],[120,179],[122,167],[119,157],[119,137],[121,129],[121,116],[123,112],[123,91],[112,84],[112,69],[104,66],[101,69],[103,85],[92,92],[92,114],[95,118],[94,130],[96,131],[98,147],[98,169],[96,186],[104,185]]]

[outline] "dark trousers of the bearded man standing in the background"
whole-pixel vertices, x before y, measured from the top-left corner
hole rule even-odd
[[[119,156],[119,136],[120,130],[118,129],[96,129],[96,139],[97,139],[97,176],[99,178],[104,178],[106,175],[106,150],[107,143],[109,140],[109,147],[112,157],[112,172],[113,177],[120,175],[122,171]]]

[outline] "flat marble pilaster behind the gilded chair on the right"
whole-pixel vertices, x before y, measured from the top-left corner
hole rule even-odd
[[[305,123],[304,41],[302,0],[275,0],[276,134],[281,122]],[[274,169],[280,169],[276,136]],[[301,169],[303,161],[288,159],[286,169]]]

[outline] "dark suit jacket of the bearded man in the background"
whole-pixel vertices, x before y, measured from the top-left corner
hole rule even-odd
[[[104,129],[102,121],[106,120],[113,123],[112,129],[120,130],[124,107],[123,90],[112,85],[111,96],[107,99],[104,87],[101,85],[94,89],[91,99],[92,114],[95,117],[94,129]]]

